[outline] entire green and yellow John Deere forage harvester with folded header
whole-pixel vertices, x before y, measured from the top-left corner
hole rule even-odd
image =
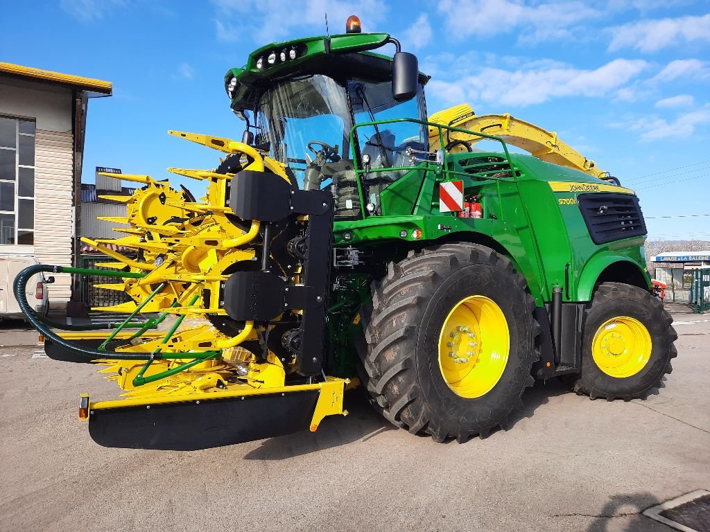
[[[505,423],[535,379],[628,400],[670,373],[677,336],[650,293],[634,192],[509,115],[458,106],[429,120],[416,57],[357,22],[227,72],[241,142],[170,132],[224,155],[168,169],[207,184],[204,198],[110,174],[142,187],[109,196],[126,202],[108,218],[129,224],[121,238],[84,239],[109,270],[18,277],[48,355],[97,363],[124,390],[82,395],[97,442],[315,431],[358,384],[396,426],[462,442]],[[373,53],[386,45],[394,57]],[[114,277],[102,287],[131,300],[94,310],[124,318],[75,331],[35,316],[20,296],[36,271]]]

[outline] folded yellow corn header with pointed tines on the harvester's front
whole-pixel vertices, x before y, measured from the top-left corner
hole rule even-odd
[[[131,298],[123,304],[92,310],[121,313],[126,318],[111,330],[59,334],[48,328],[57,324],[35,323],[45,333],[51,358],[97,363],[106,378],[124,390],[124,398],[116,401],[92,401],[83,394],[80,419],[89,420],[92,437],[103,445],[190,449],[276,436],[300,428],[315,431],[324,416],[346,415],[342,401],[349,379],[303,375],[308,373],[307,364],[297,349],[254,348],[260,342],[269,345],[268,336],[274,328],[289,328],[293,332],[288,338],[295,342],[307,314],[305,309],[314,308],[307,300],[324,299],[320,292],[307,292],[303,286],[305,260],[275,257],[271,243],[290,240],[297,247],[307,242],[315,233],[311,222],[324,215],[328,251],[320,262],[327,264],[332,231],[329,194],[297,191],[283,165],[244,143],[169,133],[226,154],[215,170],[168,169],[206,182],[207,194],[196,200],[187,189],[175,190],[168,181],[148,175],[103,174],[142,185],[130,197],[102,196],[124,201],[126,217],[101,219],[129,224],[130,228],[114,229],[124,234],[121,238],[82,238],[111,257],[111,262],[99,266],[114,271],[100,270],[99,275],[114,277],[116,282],[96,287],[125,292]],[[290,216],[289,223],[273,223],[269,215],[268,221],[235,216],[240,207],[230,205],[230,201],[239,195],[234,183],[236,172],[246,177],[252,172],[261,182],[268,182],[264,175],[270,177],[274,193],[271,200],[277,208],[280,204],[283,209],[278,191],[291,196],[293,201],[285,207],[288,211],[274,215]],[[252,184],[239,186],[249,189]],[[264,211],[264,206],[255,207],[249,199],[265,194],[243,195],[248,199],[240,214],[245,209],[268,211],[268,205]],[[313,210],[313,205],[320,211]],[[132,255],[137,258],[119,253],[116,245],[134,250]],[[86,273],[80,268],[50,268]],[[225,299],[230,288],[225,285],[235,272],[276,276],[293,286],[295,296],[285,301],[285,308],[278,309],[278,316],[264,316],[265,320],[259,322],[234,319],[239,310],[228,315],[230,304],[225,304]],[[248,282],[261,278],[246,277]],[[258,304],[250,311],[254,309],[256,315],[265,312]],[[146,315],[150,316],[147,321],[140,321]],[[249,343],[251,350],[243,347]],[[310,362],[311,355],[307,356]],[[225,424],[225,419],[234,421]]]

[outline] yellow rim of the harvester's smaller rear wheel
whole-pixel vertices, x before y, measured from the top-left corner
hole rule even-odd
[[[617,316],[597,329],[591,340],[591,355],[606,375],[631,377],[651,358],[651,336],[637,319]]]

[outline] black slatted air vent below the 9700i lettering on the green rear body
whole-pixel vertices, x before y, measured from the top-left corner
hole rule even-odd
[[[595,244],[646,234],[646,224],[636,196],[581,194],[577,201]]]

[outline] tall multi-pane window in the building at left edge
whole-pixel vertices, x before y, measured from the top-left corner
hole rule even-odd
[[[0,116],[0,244],[34,236],[35,121]]]

